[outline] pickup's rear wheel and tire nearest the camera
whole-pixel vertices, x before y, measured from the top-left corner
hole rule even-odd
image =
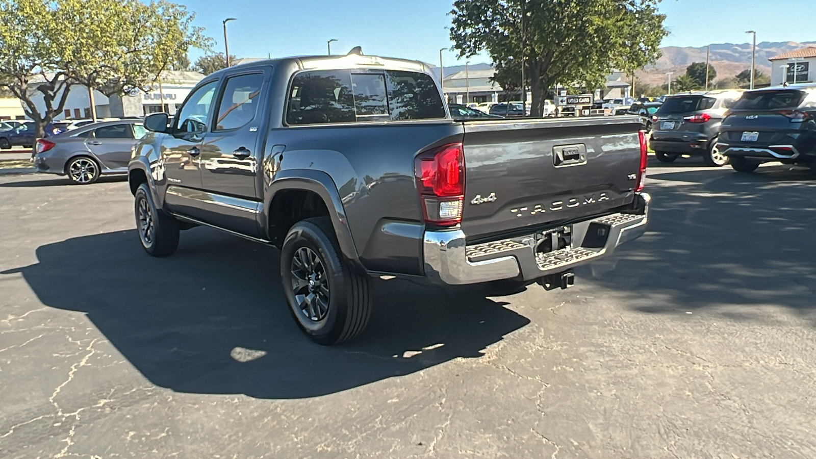
[[[289,312],[313,341],[335,345],[366,329],[369,279],[348,265],[328,217],[296,223],[281,247],[281,281]]]

